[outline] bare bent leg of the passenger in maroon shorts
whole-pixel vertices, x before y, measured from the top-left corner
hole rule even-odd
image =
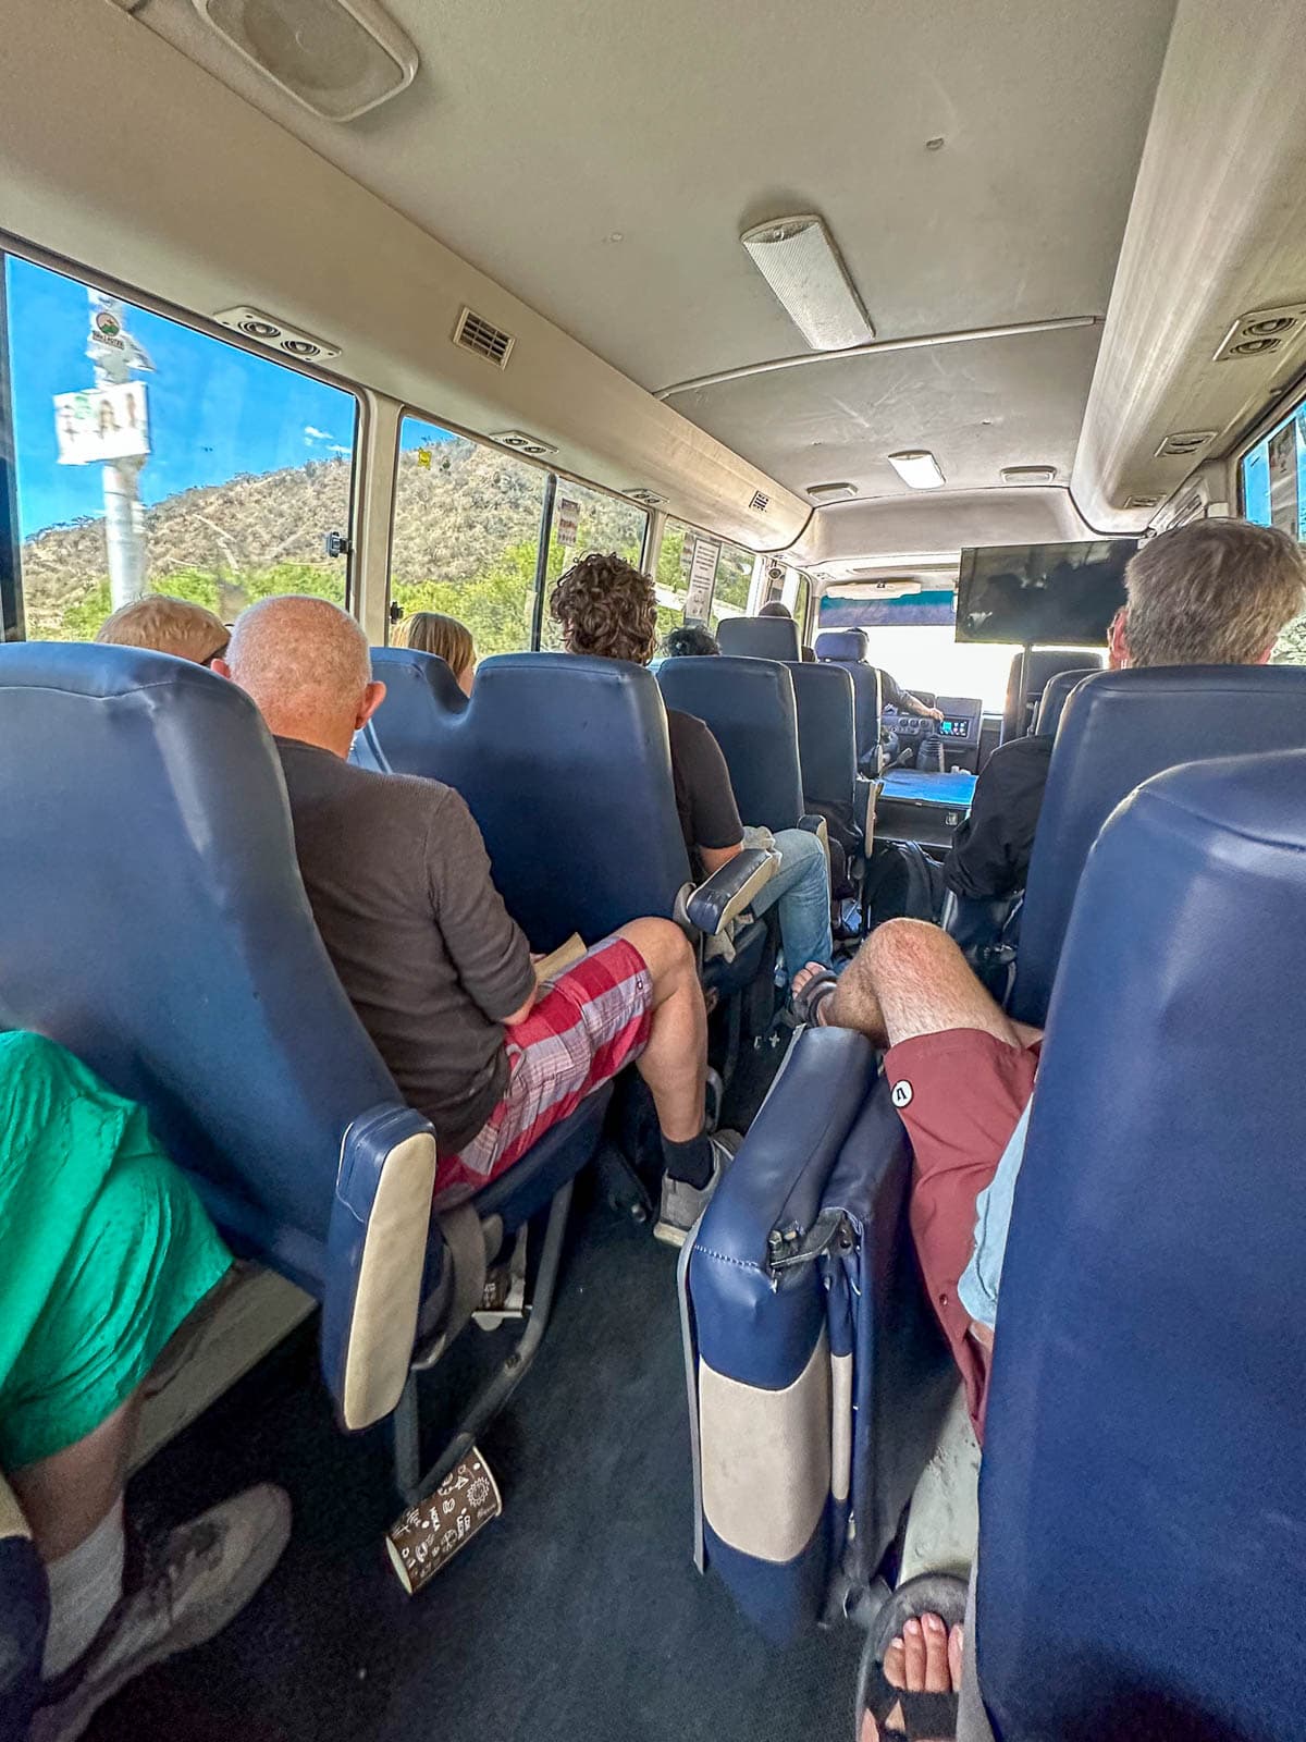
[[[855,1028],[878,1047],[949,1028],[979,1028],[1010,1047],[1038,1040],[1036,1028],[998,1009],[947,932],[925,920],[888,920],[867,937],[831,995],[825,1021]]]

